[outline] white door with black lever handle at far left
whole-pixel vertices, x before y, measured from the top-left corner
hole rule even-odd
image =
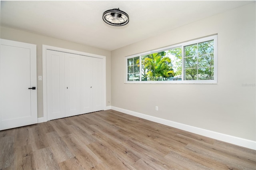
[[[0,41],[0,130],[35,124],[36,45]]]

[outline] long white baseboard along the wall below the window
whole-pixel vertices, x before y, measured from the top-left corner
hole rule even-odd
[[[231,143],[231,144],[235,144],[235,145],[238,145],[238,146],[242,146],[242,147],[245,147],[245,148],[250,148],[250,149],[256,150],[256,141],[253,141],[253,140],[239,138],[239,137],[231,136],[231,135],[228,135],[228,134],[222,134],[222,133],[219,133],[219,132],[214,132],[214,131],[206,130],[206,129],[203,129],[203,128],[193,127],[193,126],[190,126],[190,125],[185,125],[185,124],[182,124],[182,123],[177,123],[177,122],[169,121],[169,120],[166,120],[166,119],[161,119],[161,118],[158,118],[158,117],[153,117],[153,116],[150,116],[150,115],[144,115],[142,113],[137,113],[137,112],[129,111],[129,110],[126,110],[126,109],[121,109],[121,108],[114,107],[114,106],[111,106],[111,109],[113,109],[115,111],[122,112],[122,113],[126,113],[128,115],[140,117],[142,119],[146,119],[146,120],[149,120],[149,121],[153,121],[153,122],[156,122],[156,123],[167,125],[167,126],[170,126],[170,127],[178,128],[178,129],[185,130],[185,131],[188,131],[188,132],[192,132],[192,133],[195,133],[195,134],[200,134],[202,136],[206,136],[206,137],[213,138],[213,139],[216,139],[216,140],[221,140],[223,142],[228,142],[228,143]]]

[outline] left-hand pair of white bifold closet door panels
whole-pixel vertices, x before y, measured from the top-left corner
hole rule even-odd
[[[48,120],[80,114],[79,58],[46,51]]]

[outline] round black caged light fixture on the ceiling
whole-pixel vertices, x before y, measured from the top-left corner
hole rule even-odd
[[[103,21],[112,26],[124,26],[129,22],[129,16],[118,9],[107,10],[103,13]]]

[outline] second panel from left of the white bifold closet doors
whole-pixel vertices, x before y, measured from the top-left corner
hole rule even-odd
[[[80,55],[65,53],[65,117],[80,114]]]

